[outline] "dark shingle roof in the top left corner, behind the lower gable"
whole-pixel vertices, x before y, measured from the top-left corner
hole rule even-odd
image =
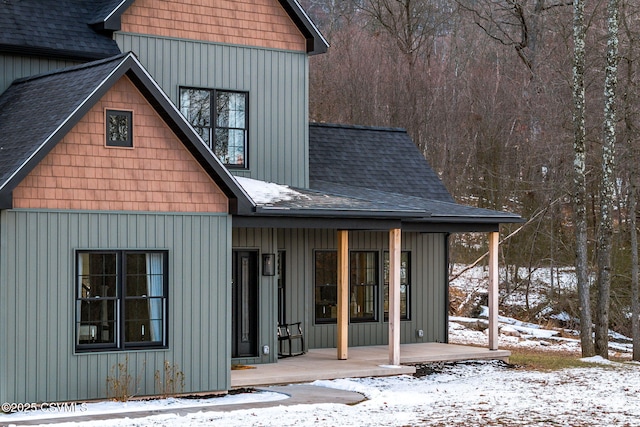
[[[0,51],[65,59],[101,59],[120,53],[109,34],[90,25],[114,0],[3,0]]]

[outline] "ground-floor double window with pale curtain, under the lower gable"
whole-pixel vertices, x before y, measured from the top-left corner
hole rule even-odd
[[[166,251],[76,252],[76,350],[167,346]]]

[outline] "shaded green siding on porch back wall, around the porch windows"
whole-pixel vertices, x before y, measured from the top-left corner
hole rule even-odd
[[[447,339],[447,259],[446,234],[402,233],[402,250],[411,252],[410,320],[401,322],[401,341],[445,342]],[[336,345],[335,324],[315,324],[314,319],[314,252],[336,249],[336,230],[280,230],[280,250],[287,256],[286,306],[289,322],[304,321],[309,348],[331,348]],[[349,250],[371,250],[379,253],[382,304],[382,253],[389,248],[389,234],[381,232],[349,232]],[[382,316],[382,310],[378,310]],[[417,336],[417,330],[424,337]],[[388,343],[389,324],[351,323],[349,345],[367,346]]]

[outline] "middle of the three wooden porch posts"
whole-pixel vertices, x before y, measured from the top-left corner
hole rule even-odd
[[[400,243],[399,228],[389,231],[389,364],[400,364]]]

